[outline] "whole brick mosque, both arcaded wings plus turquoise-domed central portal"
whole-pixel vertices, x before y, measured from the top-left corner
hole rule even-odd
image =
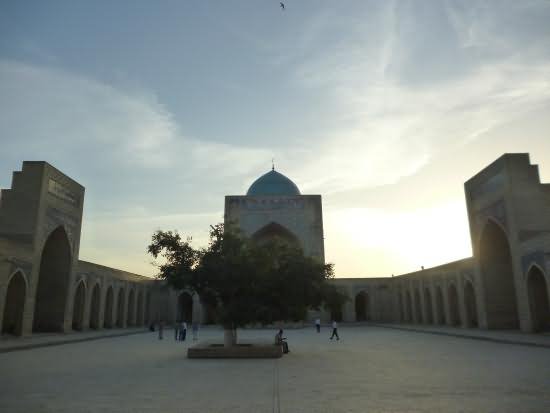
[[[324,321],[550,330],[550,184],[528,154],[505,154],[468,180],[473,256],[396,277],[332,280],[349,297]],[[79,260],[84,187],[46,162],[23,162],[0,196],[0,330],[34,332],[209,322],[189,291]],[[273,170],[225,198],[226,225],[324,261],[322,199]]]

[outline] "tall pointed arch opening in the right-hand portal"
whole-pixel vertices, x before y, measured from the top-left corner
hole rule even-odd
[[[479,243],[479,264],[485,289],[489,328],[518,328],[519,317],[510,245],[504,231],[488,221]]]

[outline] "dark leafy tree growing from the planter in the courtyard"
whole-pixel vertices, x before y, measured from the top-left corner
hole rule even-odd
[[[226,345],[236,329],[251,323],[302,320],[335,289],[332,264],[306,257],[300,248],[274,239],[258,245],[233,227],[212,226],[208,247],[194,249],[177,232],[153,234],[149,253],[162,256],[158,277],[174,288],[189,288],[216,308]]]

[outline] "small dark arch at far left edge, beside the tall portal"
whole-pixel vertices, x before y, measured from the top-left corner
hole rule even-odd
[[[23,332],[23,310],[27,283],[20,271],[10,279],[4,302],[4,316],[2,317],[2,334],[20,336]]]

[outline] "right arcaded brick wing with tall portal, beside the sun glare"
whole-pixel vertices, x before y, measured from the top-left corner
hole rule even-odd
[[[464,189],[473,257],[393,278],[336,279],[351,299],[345,321],[550,331],[550,184],[517,153]]]

